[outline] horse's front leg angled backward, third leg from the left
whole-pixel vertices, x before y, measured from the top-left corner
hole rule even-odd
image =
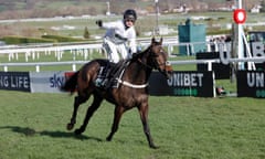
[[[107,141],[110,141],[113,139],[114,134],[118,130],[118,125],[124,112],[125,112],[124,107],[121,106],[115,107],[113,127],[110,134],[107,137]]]

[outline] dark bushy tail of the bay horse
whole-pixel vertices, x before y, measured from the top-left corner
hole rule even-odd
[[[77,77],[78,77],[80,71],[75,72],[61,87],[61,91],[63,92],[71,92],[73,94],[76,91],[77,85]]]

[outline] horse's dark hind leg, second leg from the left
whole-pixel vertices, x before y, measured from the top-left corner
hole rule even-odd
[[[85,119],[83,121],[83,125],[78,129],[75,130],[76,135],[81,135],[82,132],[85,131],[86,126],[87,126],[91,117],[97,110],[97,108],[100,106],[102,102],[103,102],[103,97],[100,97],[99,95],[94,94],[94,100],[93,100],[92,105],[88,107],[88,109],[86,112],[86,116],[85,116]]]

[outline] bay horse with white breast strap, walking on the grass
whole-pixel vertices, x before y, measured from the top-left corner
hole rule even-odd
[[[172,67],[168,64],[167,57],[167,52],[162,49],[162,39],[157,42],[152,38],[151,44],[145,51],[135,53],[132,59],[129,60],[121,78],[118,80],[119,86],[106,91],[96,87],[94,82],[100,67],[106,66],[109,62],[107,60],[93,60],[85,64],[66,80],[61,88],[62,91],[70,91],[71,94],[77,91],[77,96],[74,99],[74,110],[71,121],[67,124],[67,129],[73,129],[76,123],[78,106],[93,95],[94,100],[87,109],[83,125],[75,130],[76,135],[85,131],[89,118],[100,106],[103,99],[106,99],[115,105],[112,131],[106,138],[108,141],[112,140],[117,131],[121,115],[126,110],[137,107],[149,147],[157,148],[148,126],[148,80],[152,70],[158,70],[166,77],[170,76]]]

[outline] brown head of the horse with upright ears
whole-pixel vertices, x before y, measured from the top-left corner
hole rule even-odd
[[[162,38],[159,42],[157,42],[156,39],[152,38],[149,56],[151,61],[151,66],[169,78],[173,72],[173,68],[168,62],[168,53],[162,47]]]

